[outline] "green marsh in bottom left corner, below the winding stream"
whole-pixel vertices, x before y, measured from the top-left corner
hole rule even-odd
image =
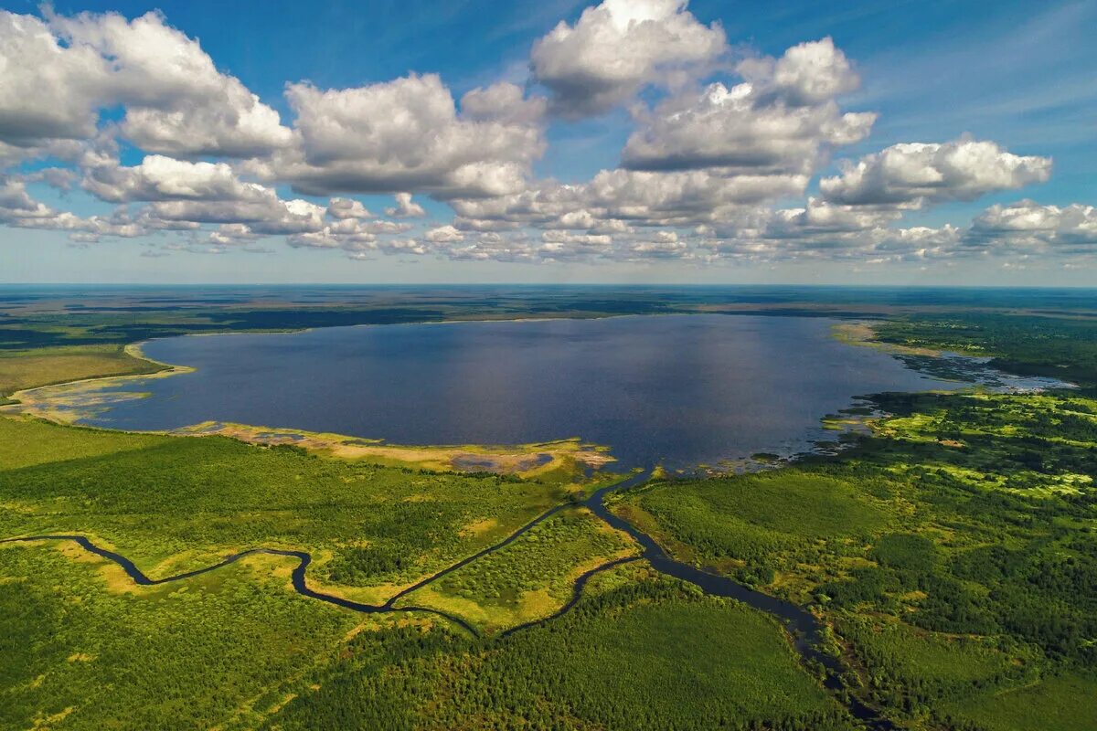
[[[255,726],[357,620],[259,569],[120,593],[104,567],[0,548],[0,728]]]

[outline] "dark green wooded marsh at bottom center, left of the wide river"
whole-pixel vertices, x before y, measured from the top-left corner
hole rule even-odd
[[[498,642],[360,635],[267,728],[852,728],[766,616],[634,569],[592,583],[572,613]]]

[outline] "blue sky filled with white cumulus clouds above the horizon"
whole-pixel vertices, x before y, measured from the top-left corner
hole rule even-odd
[[[0,7],[0,283],[1097,286],[1097,0]]]

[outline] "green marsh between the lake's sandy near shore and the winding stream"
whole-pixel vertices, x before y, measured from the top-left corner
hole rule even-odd
[[[407,560],[352,583],[410,581],[490,545],[565,498],[561,486],[419,473],[224,437],[7,419],[0,432],[0,450],[12,455],[0,467],[7,507],[0,534],[88,534],[154,576],[258,546],[314,552],[323,576],[325,557],[373,546]],[[489,530],[466,529],[487,519],[494,521]]]

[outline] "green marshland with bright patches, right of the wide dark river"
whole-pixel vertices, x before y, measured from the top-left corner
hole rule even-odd
[[[862,697],[913,728],[960,718],[965,699],[1043,693],[1021,688],[1077,669],[1072,683],[1097,693],[1097,400],[877,402],[893,415],[839,457],[657,482],[617,510],[683,560],[814,606]],[[1028,712],[1006,708],[994,718]],[[981,712],[963,722],[1030,728],[982,724]],[[1042,722],[1031,728],[1083,728],[1064,713]]]

